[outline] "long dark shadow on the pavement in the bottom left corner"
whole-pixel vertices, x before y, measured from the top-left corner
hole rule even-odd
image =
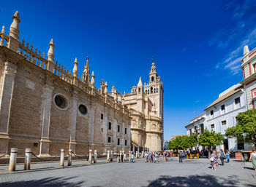
[[[74,186],[74,187],[80,187],[83,186],[83,183],[86,182],[84,180],[81,180],[77,183],[75,182],[69,182],[69,180],[72,180],[76,177],[72,178],[44,178],[40,180],[28,180],[28,181],[14,181],[14,182],[6,182],[1,183],[0,186]]]

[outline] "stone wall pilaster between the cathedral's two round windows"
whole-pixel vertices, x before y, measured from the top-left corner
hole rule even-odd
[[[76,124],[77,124],[77,115],[78,115],[78,92],[73,91],[71,103],[70,103],[70,139],[69,139],[69,149],[75,151],[75,132],[76,132]]]

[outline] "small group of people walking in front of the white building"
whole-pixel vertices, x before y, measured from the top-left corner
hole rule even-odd
[[[213,151],[213,153],[210,156],[211,161],[211,169],[216,170],[216,167],[219,166],[218,159],[222,162],[222,166],[224,165],[224,160],[227,159],[227,163],[230,162],[230,152],[228,150],[223,151],[221,149],[220,151]]]

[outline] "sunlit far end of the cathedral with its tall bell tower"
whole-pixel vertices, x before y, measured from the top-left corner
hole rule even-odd
[[[124,105],[131,111],[132,145],[149,148],[150,151],[162,150],[163,135],[163,84],[157,75],[152,57],[148,84],[142,84],[124,94]]]

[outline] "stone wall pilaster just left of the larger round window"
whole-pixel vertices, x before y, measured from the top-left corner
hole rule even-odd
[[[51,81],[48,79],[48,84],[45,84],[42,90],[42,107],[41,107],[41,140],[39,156],[50,156],[49,147],[49,130],[50,130],[50,110],[53,100],[53,86],[50,85]]]

